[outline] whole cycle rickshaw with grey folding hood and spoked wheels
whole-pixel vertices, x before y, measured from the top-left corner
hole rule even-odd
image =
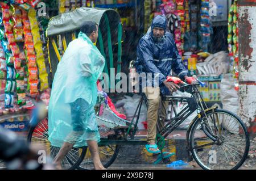
[[[96,46],[106,58],[105,73],[109,74],[110,68],[115,68],[117,73],[121,71],[122,24],[117,11],[83,7],[55,16],[49,21],[47,37],[49,63],[53,76],[61,60],[61,54],[68,43],[77,37],[77,31],[84,20],[94,20],[99,24]],[[113,49],[117,50],[116,55],[113,54]],[[114,60],[117,64],[114,64]],[[232,112],[218,109],[216,106],[207,107],[197,89],[200,85],[200,81],[198,82],[195,85],[184,84],[180,87],[181,91],[190,92],[191,96],[163,96],[163,100],[169,102],[174,110],[175,116],[166,120],[164,128],[158,130],[156,136],[158,147],[163,153],[166,150],[166,142],[170,139],[168,135],[189,115],[196,112],[186,136],[189,155],[203,169],[238,169],[245,161],[250,145],[245,124]],[[142,104],[145,102],[147,105],[147,99],[144,94],[138,94],[141,95],[141,99],[130,121],[118,117],[112,111],[106,103],[104,94],[98,95],[96,117],[101,134],[98,145],[101,162],[106,168],[115,161],[123,145],[146,145],[146,140],[137,137],[137,132]],[[185,102],[187,106],[176,112],[174,106],[176,102]],[[40,144],[54,158],[60,148],[51,146],[51,142],[48,141],[47,118],[38,119],[33,116],[30,124],[27,140],[31,144]],[[170,163],[170,159],[160,154],[159,159],[154,163],[160,162]],[[63,159],[62,166],[63,169],[93,169],[89,149],[86,146],[72,148]]]

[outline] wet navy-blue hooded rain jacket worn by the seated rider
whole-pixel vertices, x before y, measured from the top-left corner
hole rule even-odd
[[[156,40],[153,36],[154,27],[163,28],[165,31],[164,36],[160,40]],[[147,75],[146,86],[159,86],[162,95],[170,95],[170,91],[163,85],[163,81],[166,80],[168,75],[171,75],[171,70],[182,80],[188,74],[177,50],[174,38],[170,32],[166,32],[166,27],[167,19],[163,15],[158,15],[154,18],[151,24],[151,31],[139,41],[137,60],[135,61],[137,72],[139,74],[146,73]],[[152,73],[152,77],[147,73]],[[140,79],[141,82],[142,79]],[[143,89],[142,83],[141,86]]]

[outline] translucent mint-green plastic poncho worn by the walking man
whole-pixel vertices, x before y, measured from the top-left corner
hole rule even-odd
[[[86,146],[86,140],[100,141],[94,106],[96,83],[104,65],[104,57],[85,33],[80,32],[79,37],[69,43],[57,65],[48,107],[52,146],[69,142],[80,147]]]

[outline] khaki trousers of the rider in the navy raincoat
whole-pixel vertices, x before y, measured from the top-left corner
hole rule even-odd
[[[148,101],[147,142],[155,143],[156,131],[160,131],[164,127],[168,102],[162,101],[159,87],[144,87],[143,92]],[[159,120],[158,115],[164,119]]]

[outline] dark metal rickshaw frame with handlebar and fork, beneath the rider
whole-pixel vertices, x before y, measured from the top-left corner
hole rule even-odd
[[[198,84],[197,84],[198,85]],[[208,110],[207,104],[205,104],[203,97],[201,96],[199,90],[197,89],[197,85],[185,85],[181,86],[181,88],[185,87],[191,87],[192,91],[191,97],[183,97],[183,96],[171,96],[171,95],[164,95],[162,96],[162,99],[166,102],[170,102],[172,105],[174,105],[175,102],[185,102],[188,105],[183,108],[179,113],[175,112],[175,117],[172,117],[171,120],[167,121],[167,124],[159,131],[158,135],[162,139],[166,138],[171,132],[173,132],[185,119],[187,119],[188,116],[190,116],[194,111],[197,110],[197,117],[201,120],[201,126],[203,128],[204,133],[213,140],[213,143],[216,142],[217,136],[210,132],[209,128],[205,126],[205,120],[202,119],[203,117],[206,117],[206,111]],[[147,101],[145,100],[146,96],[143,94],[141,97],[141,100],[139,101],[139,104],[134,112],[133,119],[128,123],[129,128],[126,132],[126,139],[125,140],[105,140],[102,139],[99,143],[99,145],[106,145],[106,144],[118,144],[118,145],[143,145],[146,144],[146,141],[141,140],[134,140],[135,134],[137,132],[137,125],[139,121],[139,115],[141,113],[141,107],[143,104],[143,101],[147,104]],[[217,108],[217,107],[216,107]],[[134,123],[134,119],[137,116],[137,119]],[[214,125],[215,126],[215,125]],[[131,128],[134,128],[133,130]],[[127,136],[130,136],[131,140],[127,140]],[[205,145],[204,145],[205,146]]]

